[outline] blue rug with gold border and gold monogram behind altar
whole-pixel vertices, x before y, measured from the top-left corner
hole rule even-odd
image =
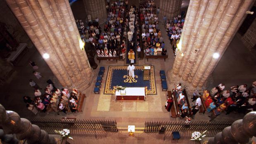
[[[147,94],[157,94],[154,66],[150,69],[149,80],[143,80],[143,66],[135,66],[135,78],[130,78],[127,66],[109,66],[104,94],[113,94],[116,85],[124,87],[147,87]]]

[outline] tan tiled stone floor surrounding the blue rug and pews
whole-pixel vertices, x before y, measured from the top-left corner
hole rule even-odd
[[[79,1],[78,1],[79,2]],[[81,1],[80,1],[81,2]],[[75,12],[74,12],[75,14]],[[159,18],[161,19],[161,18]],[[29,79],[35,80],[40,87],[44,88],[46,86],[46,80],[49,78],[52,79],[56,86],[62,88],[55,76],[50,71],[50,68],[47,66],[45,61],[40,57],[40,54],[37,50],[29,50],[26,56],[21,60],[18,66],[15,66],[17,71],[17,75],[13,78],[10,84],[4,85],[0,87],[1,97],[0,103],[5,106],[7,110],[13,110],[19,113],[21,117],[24,118],[62,118],[62,117],[70,117],[70,118],[78,118],[78,119],[114,119],[118,123],[119,127],[127,127],[127,125],[135,125],[135,127],[144,127],[145,121],[155,120],[155,121],[164,121],[164,120],[180,120],[179,118],[170,118],[169,113],[164,109],[164,103],[166,101],[166,92],[161,91],[161,81],[159,77],[159,70],[167,70],[171,69],[173,64],[173,53],[170,50],[170,44],[167,38],[167,35],[164,31],[164,26],[160,23],[160,29],[162,31],[162,35],[164,37],[164,41],[166,43],[166,48],[168,51],[168,59],[166,61],[162,59],[146,59],[139,60],[139,65],[147,65],[151,64],[155,66],[155,78],[156,78],[156,88],[157,95],[149,95],[147,102],[114,102],[114,98],[112,95],[103,94],[104,83],[106,80],[106,75],[103,78],[102,88],[100,94],[94,94],[93,88],[96,80],[96,76],[94,76],[92,84],[85,90],[86,98],[83,106],[83,112],[81,113],[57,113],[51,112],[47,113],[39,113],[38,115],[34,115],[31,111],[26,109],[26,106],[23,102],[22,97],[24,95],[33,97],[33,88],[28,84]],[[225,83],[226,87],[232,86],[234,83],[242,84],[242,83],[251,83],[255,80],[255,72],[256,72],[256,53],[249,52],[249,50],[244,47],[242,42],[238,38],[234,38],[230,43],[227,51],[220,59],[219,64],[216,66],[213,71],[213,83],[209,86],[209,88],[218,85],[218,83]],[[43,78],[37,80],[35,76],[33,76],[33,69],[28,65],[28,61],[35,61],[39,69],[38,71],[42,73]],[[95,59],[96,61],[96,59]],[[98,68],[95,71],[97,73],[99,71],[100,66],[114,66],[114,65],[123,65],[123,61],[101,61],[98,64]],[[230,71],[232,70],[232,71]],[[106,72],[105,72],[106,73]],[[168,82],[170,83],[170,82]],[[168,90],[171,90],[173,85],[168,85]],[[192,104],[192,103],[191,103]],[[193,105],[193,104],[192,104]],[[230,115],[225,115],[222,113],[220,116],[216,118],[216,120],[236,120],[240,119],[243,116],[241,114],[230,113]],[[197,113],[194,120],[209,120],[207,114]],[[76,136],[75,136],[76,137]],[[171,140],[170,137],[167,137],[168,141],[163,141],[162,135],[158,134],[135,134],[135,137],[128,137],[127,133],[122,134],[117,133],[113,136],[109,136],[106,139],[95,139],[94,135],[90,137],[81,137],[78,136],[79,140],[75,140],[79,142],[87,143],[191,143],[187,139],[189,139],[190,135],[186,134],[179,141]],[[118,138],[116,138],[118,137]],[[74,142],[76,143],[76,142]]]

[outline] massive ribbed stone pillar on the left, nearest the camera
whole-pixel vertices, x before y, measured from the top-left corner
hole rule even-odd
[[[84,90],[92,68],[80,49],[80,35],[67,0],[6,0],[62,86]]]

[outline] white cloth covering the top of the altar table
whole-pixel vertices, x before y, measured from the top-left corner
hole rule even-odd
[[[116,96],[144,96],[145,97],[145,87],[126,87],[126,94],[121,94],[121,92],[116,91]]]

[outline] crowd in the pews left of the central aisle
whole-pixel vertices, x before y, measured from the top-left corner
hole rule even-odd
[[[123,1],[111,2],[108,7],[108,17],[104,25],[104,32],[99,26],[99,19],[89,21],[84,26],[83,21],[76,20],[83,42],[90,43],[96,49],[97,57],[118,57],[123,35],[125,4]]]

